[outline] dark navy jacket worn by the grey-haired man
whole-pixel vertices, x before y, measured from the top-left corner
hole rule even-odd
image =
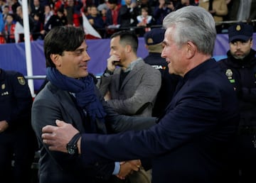
[[[233,88],[215,60],[207,60],[183,77],[157,125],[114,135],[82,134],[84,164],[151,157],[154,183],[225,182],[238,116]]]

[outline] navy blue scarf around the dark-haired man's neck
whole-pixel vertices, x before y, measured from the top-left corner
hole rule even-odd
[[[66,77],[54,67],[48,67],[46,77],[59,89],[74,93],[78,106],[85,109],[93,121],[96,117],[104,118],[106,116],[103,106],[95,94],[95,83],[92,76],[74,79]]]

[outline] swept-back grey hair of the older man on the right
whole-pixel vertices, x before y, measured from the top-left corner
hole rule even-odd
[[[178,46],[191,41],[198,52],[213,55],[216,29],[213,16],[199,6],[186,6],[169,13],[163,21],[164,28],[174,27],[174,41]]]

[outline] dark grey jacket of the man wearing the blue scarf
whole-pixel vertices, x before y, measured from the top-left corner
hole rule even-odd
[[[154,125],[156,118],[134,118],[120,116],[115,113],[100,96],[100,92],[95,87],[97,96],[100,97],[102,105],[107,113],[106,122],[102,123],[96,119],[97,133],[107,133],[110,128],[113,133],[128,129],[141,129]],[[58,89],[48,82],[46,87],[39,92],[33,102],[32,126],[36,132],[40,145],[41,157],[39,160],[39,182],[41,183],[80,183],[80,182],[102,182],[110,178],[114,170],[114,162],[105,165],[96,164],[90,166],[82,165],[81,158],[48,150],[48,146],[43,144],[41,131],[43,126],[55,125],[55,120],[60,119],[72,123],[81,133],[85,133],[84,121],[73,101],[73,97],[68,91]]]

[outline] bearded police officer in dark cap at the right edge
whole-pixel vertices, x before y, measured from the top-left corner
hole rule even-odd
[[[236,23],[228,28],[228,58],[218,63],[237,93],[240,123],[237,136],[240,183],[253,182],[256,172],[256,58],[253,28]]]

